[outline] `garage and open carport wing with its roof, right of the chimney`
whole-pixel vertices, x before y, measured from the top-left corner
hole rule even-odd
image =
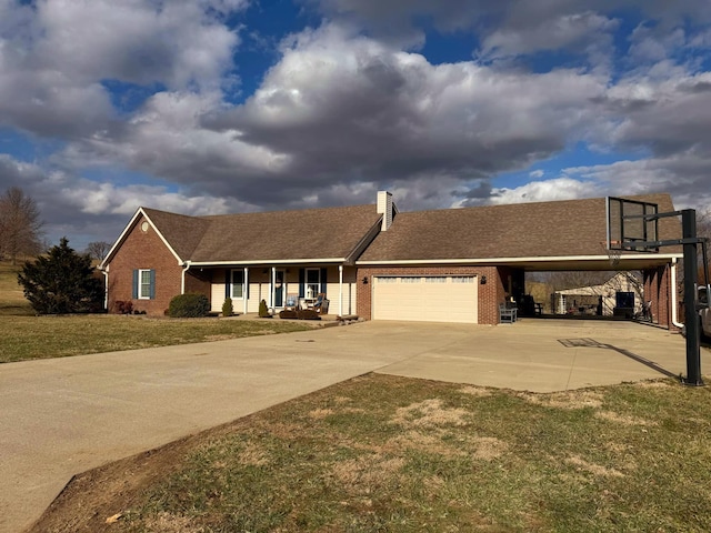
[[[673,211],[669,194],[632,198]],[[617,255],[609,220],[607,198],[399,212],[356,262],[358,314],[498,324],[499,306],[527,295],[527,272],[639,271],[657,323],[679,328],[681,248]],[[679,220],[659,220],[658,238],[680,237]]]

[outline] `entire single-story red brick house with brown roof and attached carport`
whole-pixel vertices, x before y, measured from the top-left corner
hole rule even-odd
[[[632,197],[672,211],[669,194]],[[605,199],[399,212],[369,205],[209,217],[139,208],[100,265],[117,302],[162,315],[181,293],[227,296],[238,313],[274,311],[326,293],[330,314],[368,320],[499,323],[499,304],[525,293],[527,271],[611,270]],[[660,238],[681,235],[661,219]],[[659,323],[674,316],[678,248],[624,253],[618,270],[644,272]]]

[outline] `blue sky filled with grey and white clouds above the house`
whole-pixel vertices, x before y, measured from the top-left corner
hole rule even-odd
[[[710,0],[0,0],[0,192],[140,207],[711,201]]]

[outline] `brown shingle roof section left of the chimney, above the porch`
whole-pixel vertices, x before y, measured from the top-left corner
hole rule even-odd
[[[182,260],[347,259],[379,223],[375,205],[186,217],[143,209]]]

